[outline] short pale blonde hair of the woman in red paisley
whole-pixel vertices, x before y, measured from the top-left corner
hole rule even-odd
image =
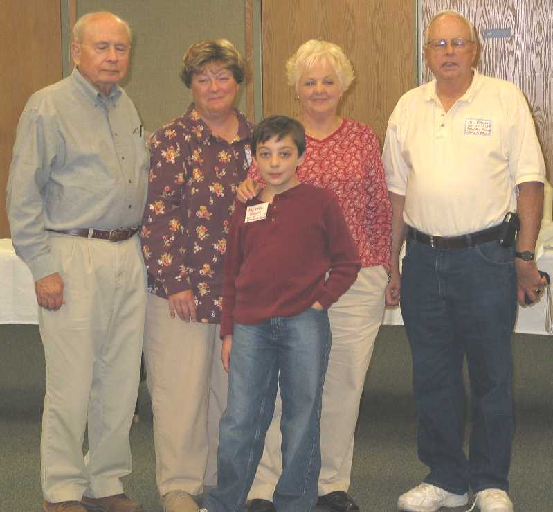
[[[347,91],[355,78],[352,63],[340,46],[322,39],[310,39],[289,58],[286,63],[289,85],[297,91],[302,74],[321,60],[326,60],[332,66],[340,86],[343,91]]]

